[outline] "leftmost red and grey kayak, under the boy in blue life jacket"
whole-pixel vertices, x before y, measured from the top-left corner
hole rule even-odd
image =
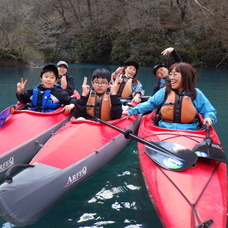
[[[0,182],[12,165],[29,163],[52,134],[71,117],[63,112],[63,107],[46,113],[20,110],[21,106],[12,113],[12,108],[5,109],[1,115]]]

